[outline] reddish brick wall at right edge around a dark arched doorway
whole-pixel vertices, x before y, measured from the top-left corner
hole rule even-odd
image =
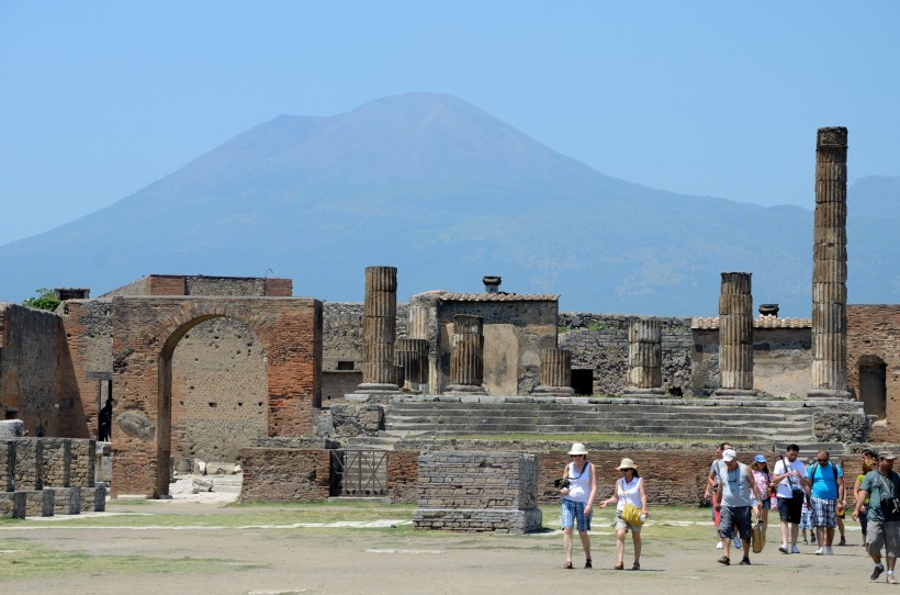
[[[870,442],[900,441],[900,305],[847,306],[847,389],[856,398],[860,391],[860,366],[885,367],[886,417],[869,430]],[[867,412],[871,413],[871,412]]]

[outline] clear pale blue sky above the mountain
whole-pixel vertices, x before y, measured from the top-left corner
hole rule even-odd
[[[900,176],[900,2],[0,0],[0,245],[280,114],[452,93],[629,181],[813,201],[815,130]]]

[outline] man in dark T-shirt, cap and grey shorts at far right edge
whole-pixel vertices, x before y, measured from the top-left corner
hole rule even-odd
[[[888,583],[896,585],[893,568],[900,555],[900,475],[893,471],[895,459],[890,452],[878,454],[878,468],[866,473],[859,485],[853,519],[856,520],[863,508],[867,508],[866,551],[875,562],[875,570],[869,579],[877,581],[885,572],[885,565],[881,564],[884,547],[888,559]]]

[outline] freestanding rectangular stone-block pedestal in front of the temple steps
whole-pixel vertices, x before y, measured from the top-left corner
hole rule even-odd
[[[538,461],[521,452],[430,452],[419,457],[420,529],[530,532],[541,527]]]

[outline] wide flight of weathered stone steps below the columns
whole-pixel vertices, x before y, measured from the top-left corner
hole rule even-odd
[[[656,403],[392,403],[387,437],[605,434],[622,440],[797,442],[817,445],[812,412],[791,405]],[[806,448],[805,448],[806,450]]]

